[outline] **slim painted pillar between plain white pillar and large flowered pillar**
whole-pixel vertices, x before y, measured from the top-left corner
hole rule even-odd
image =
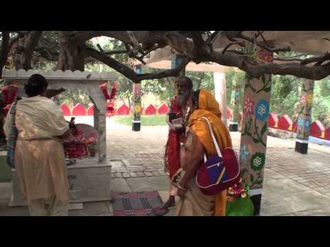
[[[231,108],[232,108],[232,115],[230,115],[230,123],[229,123],[229,131],[237,132],[239,131],[239,121],[240,121],[240,114],[239,114],[239,97],[241,97],[241,92],[239,90],[239,83],[234,82],[232,86],[232,97],[231,97]]]

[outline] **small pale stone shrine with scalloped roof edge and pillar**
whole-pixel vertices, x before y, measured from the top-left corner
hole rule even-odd
[[[106,104],[100,84],[117,80],[115,73],[89,71],[3,70],[2,78],[19,86],[19,95],[26,97],[23,86],[31,75],[43,75],[47,89],[79,89],[85,91],[94,104],[94,128],[98,133],[96,156],[78,159],[67,166],[70,203],[111,200],[111,165],[107,163]],[[19,193],[16,170],[12,169],[12,199],[10,206],[26,205]]]

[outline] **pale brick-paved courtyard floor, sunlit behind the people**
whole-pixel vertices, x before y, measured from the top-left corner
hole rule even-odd
[[[76,123],[93,124],[91,117]],[[107,158],[112,165],[113,191],[158,190],[168,193],[164,176],[166,126],[144,127],[132,132],[107,119]],[[232,132],[235,150],[240,133]],[[268,137],[261,215],[330,215],[330,148],[309,143],[307,155],[294,152],[294,141]],[[10,184],[0,184],[0,215],[26,215],[26,208],[8,208]],[[90,202],[70,215],[111,215],[111,203]],[[171,209],[168,215],[174,215]]]

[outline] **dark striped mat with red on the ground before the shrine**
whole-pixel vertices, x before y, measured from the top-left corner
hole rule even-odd
[[[155,216],[153,209],[163,204],[157,191],[114,192],[112,199],[114,216]]]

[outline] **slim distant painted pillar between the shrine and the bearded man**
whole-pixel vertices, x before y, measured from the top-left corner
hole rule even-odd
[[[135,67],[135,72],[142,74],[142,68],[140,66]],[[141,83],[133,83],[133,99],[132,99],[132,130],[140,131],[141,130],[141,115],[142,115],[142,91]]]

